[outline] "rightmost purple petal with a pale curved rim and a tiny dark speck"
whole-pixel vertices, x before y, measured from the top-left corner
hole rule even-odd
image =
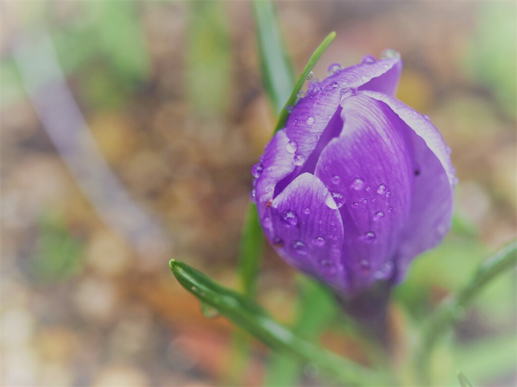
[[[436,246],[449,231],[457,183],[450,149],[436,127],[416,110],[390,96],[364,92],[389,106],[406,124],[416,169],[407,231],[398,252],[397,281],[419,253]]]

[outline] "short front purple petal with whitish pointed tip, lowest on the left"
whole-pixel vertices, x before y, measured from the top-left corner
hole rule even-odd
[[[287,263],[345,291],[343,223],[320,179],[299,175],[273,200],[270,217],[270,240]]]

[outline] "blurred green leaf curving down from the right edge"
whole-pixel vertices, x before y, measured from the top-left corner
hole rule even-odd
[[[461,318],[465,309],[486,284],[515,266],[517,262],[516,250],[517,240],[505,246],[481,264],[472,280],[460,292],[445,299],[428,319],[428,324],[423,331],[421,347],[417,353],[417,369],[418,374],[423,379],[422,382],[429,383],[426,367],[438,337],[447,331],[447,327]]]

